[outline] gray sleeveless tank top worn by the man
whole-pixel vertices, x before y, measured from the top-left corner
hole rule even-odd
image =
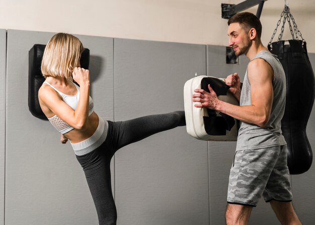
[[[270,119],[265,127],[260,127],[255,124],[241,122],[239,130],[237,151],[245,149],[258,149],[286,144],[281,131],[281,119],[284,114],[286,85],[285,73],[283,67],[276,57],[268,51],[260,51],[252,59],[263,58],[273,68],[274,81],[273,87],[273,104],[271,109]],[[248,79],[247,70],[243,82],[241,92],[240,105],[251,105],[251,84]]]

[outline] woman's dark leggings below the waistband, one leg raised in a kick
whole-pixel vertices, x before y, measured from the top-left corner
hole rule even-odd
[[[154,133],[184,126],[184,111],[150,115],[127,121],[108,121],[106,140],[91,153],[76,156],[86,175],[100,225],[114,225],[117,211],[112,194],[110,161],[115,152],[127,144]]]

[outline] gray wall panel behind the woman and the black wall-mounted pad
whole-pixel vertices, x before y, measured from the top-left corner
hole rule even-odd
[[[60,134],[28,109],[28,51],[52,33],[8,31],[6,224],[97,224],[80,164]],[[113,119],[113,39],[78,36],[91,50],[92,97]]]

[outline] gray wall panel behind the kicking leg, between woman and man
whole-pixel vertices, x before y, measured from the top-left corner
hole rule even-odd
[[[183,110],[205,45],[115,39],[115,120]],[[207,143],[178,127],[115,155],[118,224],[209,224]]]

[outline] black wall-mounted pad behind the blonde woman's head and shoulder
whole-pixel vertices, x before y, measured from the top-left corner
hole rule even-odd
[[[35,44],[29,51],[29,110],[33,116],[47,120],[39,105],[38,90],[42,86],[45,78],[41,72],[41,63],[46,45]],[[89,69],[90,50],[85,48],[81,54],[81,67]]]

